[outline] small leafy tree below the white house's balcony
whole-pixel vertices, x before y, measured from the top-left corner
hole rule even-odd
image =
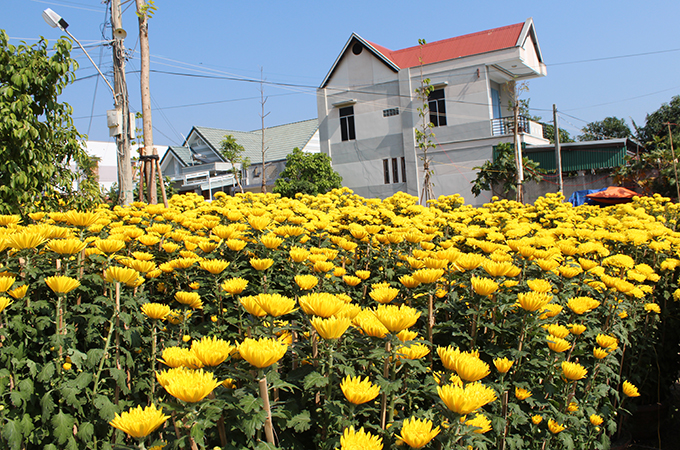
[[[538,163],[527,157],[522,158],[524,169],[524,181],[541,181],[543,169],[538,167]],[[509,197],[517,191],[517,164],[515,161],[515,150],[511,144],[498,144],[496,147],[496,157],[493,161],[485,162],[481,167],[474,167],[477,178],[472,181],[472,193],[479,197],[482,191],[491,191],[491,195],[499,197]]]

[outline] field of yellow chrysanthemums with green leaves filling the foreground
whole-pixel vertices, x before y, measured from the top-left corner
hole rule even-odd
[[[0,216],[0,447],[606,449],[677,379],[668,199],[216,197]]]

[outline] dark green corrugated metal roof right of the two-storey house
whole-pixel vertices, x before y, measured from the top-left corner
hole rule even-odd
[[[612,169],[623,166],[626,153],[634,148],[630,139],[607,139],[602,141],[573,142],[560,145],[562,153],[562,170]],[[539,167],[555,172],[555,146],[527,146],[524,156],[539,163]]]

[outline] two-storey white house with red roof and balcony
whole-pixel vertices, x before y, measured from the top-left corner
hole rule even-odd
[[[434,195],[469,202],[473,167],[513,141],[508,83],[545,75],[532,19],[395,51],[352,34],[317,91],[321,151],[359,195],[420,197],[415,129],[423,102],[415,91],[427,78]],[[521,117],[519,128],[522,143],[548,143],[540,124]]]

